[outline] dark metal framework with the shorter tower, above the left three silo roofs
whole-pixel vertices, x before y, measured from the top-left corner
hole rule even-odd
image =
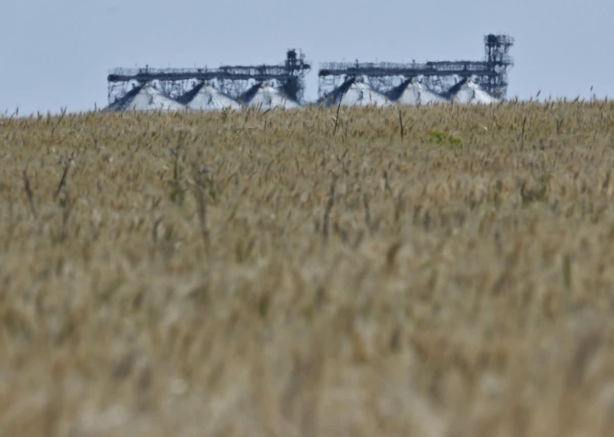
[[[178,98],[206,81],[223,93],[238,98],[252,85],[271,82],[281,88],[290,99],[303,101],[305,75],[311,66],[305,55],[292,48],[286,53],[286,61],[279,65],[222,66],[220,68],[115,68],[109,83],[109,104],[121,99],[134,87],[151,83],[163,94]]]

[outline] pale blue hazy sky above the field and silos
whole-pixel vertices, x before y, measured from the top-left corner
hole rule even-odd
[[[2,0],[0,109],[106,106],[114,66],[279,63],[302,48],[317,96],[323,61],[481,60],[509,33],[508,97],[614,96],[614,4],[605,0]]]

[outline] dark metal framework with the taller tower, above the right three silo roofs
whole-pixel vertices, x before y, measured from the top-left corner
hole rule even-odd
[[[430,90],[445,94],[459,80],[470,78],[497,98],[507,93],[507,71],[514,63],[508,52],[514,39],[508,35],[484,36],[484,61],[437,61],[426,63],[341,63],[320,64],[318,94],[324,98],[345,80],[356,77],[375,90],[386,93],[404,80],[419,77]]]

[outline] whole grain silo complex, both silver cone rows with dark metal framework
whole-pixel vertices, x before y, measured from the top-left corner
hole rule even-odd
[[[505,98],[509,55],[507,35],[484,37],[482,61],[321,64],[317,104],[490,104]],[[278,65],[219,68],[116,68],[108,75],[110,110],[221,110],[226,107],[294,109],[305,101],[311,65],[296,49]]]

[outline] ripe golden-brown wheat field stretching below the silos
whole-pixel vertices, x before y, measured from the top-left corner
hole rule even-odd
[[[0,118],[0,435],[607,436],[614,104]]]

